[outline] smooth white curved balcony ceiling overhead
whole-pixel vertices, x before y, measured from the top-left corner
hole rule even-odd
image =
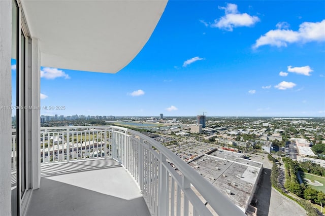
[[[116,73],[146,44],[167,0],[21,3],[41,66]]]

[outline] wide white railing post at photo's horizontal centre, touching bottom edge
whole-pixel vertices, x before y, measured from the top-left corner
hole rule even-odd
[[[159,160],[159,180],[158,180],[158,215],[167,215],[167,193],[166,191],[166,168],[163,163],[166,162],[166,156],[160,153],[160,160]]]

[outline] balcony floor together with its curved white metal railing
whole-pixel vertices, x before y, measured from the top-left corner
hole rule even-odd
[[[12,140],[15,150],[15,135]],[[41,185],[27,215],[244,215],[197,171],[139,132],[45,127],[40,143]]]

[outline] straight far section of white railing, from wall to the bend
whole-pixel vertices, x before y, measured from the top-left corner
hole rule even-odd
[[[110,156],[109,127],[42,127],[41,163]]]

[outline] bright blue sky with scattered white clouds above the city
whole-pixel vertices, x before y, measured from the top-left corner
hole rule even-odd
[[[325,2],[170,1],[117,74],[41,77],[41,105],[66,107],[42,115],[324,117]]]

